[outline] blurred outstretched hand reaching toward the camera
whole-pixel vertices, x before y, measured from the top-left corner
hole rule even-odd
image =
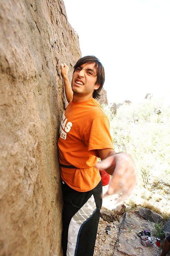
[[[125,152],[108,156],[96,164],[100,170],[112,175],[108,190],[104,196],[122,193],[120,201],[124,201],[133,191],[136,183],[136,168],[132,158]]]

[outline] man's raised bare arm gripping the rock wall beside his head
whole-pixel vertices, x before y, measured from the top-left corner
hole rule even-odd
[[[61,64],[61,75],[64,80],[65,96],[69,103],[73,99],[73,91],[71,89],[71,84],[70,84],[68,76],[67,76],[68,71],[69,71],[69,67],[67,66],[67,64],[66,63]]]

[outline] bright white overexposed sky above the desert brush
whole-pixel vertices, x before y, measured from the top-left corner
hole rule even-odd
[[[170,0],[64,0],[82,57],[105,68],[107,99],[170,95]],[[167,99],[168,97],[168,99]]]

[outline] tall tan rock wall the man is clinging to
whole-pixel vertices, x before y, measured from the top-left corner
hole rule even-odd
[[[0,1],[0,255],[61,256],[60,63],[81,57],[61,0]]]

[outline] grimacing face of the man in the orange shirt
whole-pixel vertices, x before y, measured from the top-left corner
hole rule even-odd
[[[94,90],[100,87],[100,84],[96,84],[96,81],[97,70],[95,63],[85,63],[76,68],[71,82],[74,96],[91,98]]]

